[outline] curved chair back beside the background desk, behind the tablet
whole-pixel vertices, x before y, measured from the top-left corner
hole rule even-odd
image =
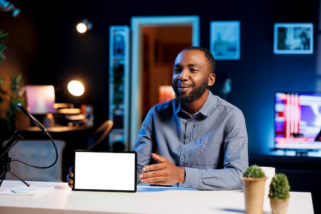
[[[87,142],[87,150],[93,150],[97,147],[100,143],[104,142],[107,134],[110,132],[111,128],[113,127],[114,123],[112,120],[105,121],[102,125],[100,125],[93,133],[92,137],[89,138]],[[105,145],[105,146],[108,146]],[[109,147],[109,146],[108,146]]]

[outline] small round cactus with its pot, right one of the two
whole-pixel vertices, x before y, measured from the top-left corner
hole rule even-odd
[[[284,173],[276,173],[272,178],[269,199],[273,214],[285,214],[290,198],[290,184]]]

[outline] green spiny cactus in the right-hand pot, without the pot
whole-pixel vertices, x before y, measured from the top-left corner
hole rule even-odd
[[[290,188],[288,177],[284,173],[276,173],[272,178],[268,197],[275,200],[289,199]]]

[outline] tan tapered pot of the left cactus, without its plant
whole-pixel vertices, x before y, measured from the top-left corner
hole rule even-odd
[[[245,212],[249,214],[263,213],[263,202],[266,178],[241,177],[245,196]]]

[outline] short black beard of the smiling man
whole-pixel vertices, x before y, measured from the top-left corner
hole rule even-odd
[[[189,95],[179,94],[177,85],[175,86],[172,85],[175,92],[176,101],[178,101],[180,105],[183,105],[183,106],[186,106],[194,102],[200,96],[202,96],[202,94],[204,94],[206,89],[208,89],[207,84],[208,84],[208,80],[206,79],[199,86],[195,86],[195,84],[190,85],[190,87],[192,88],[192,91],[190,92]]]

